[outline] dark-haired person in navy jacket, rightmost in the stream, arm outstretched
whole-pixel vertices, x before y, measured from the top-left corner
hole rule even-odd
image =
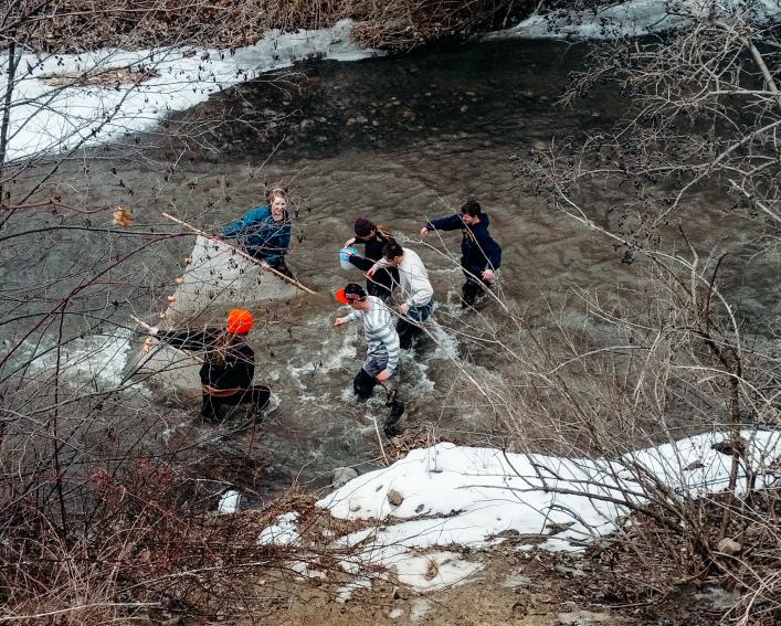
[[[461,215],[432,220],[421,229],[423,237],[431,231],[461,230],[461,267],[466,276],[462,303],[465,307],[473,306],[477,296],[493,286],[492,280],[502,264],[502,246],[488,233],[489,223],[479,203],[469,200],[461,208]]]

